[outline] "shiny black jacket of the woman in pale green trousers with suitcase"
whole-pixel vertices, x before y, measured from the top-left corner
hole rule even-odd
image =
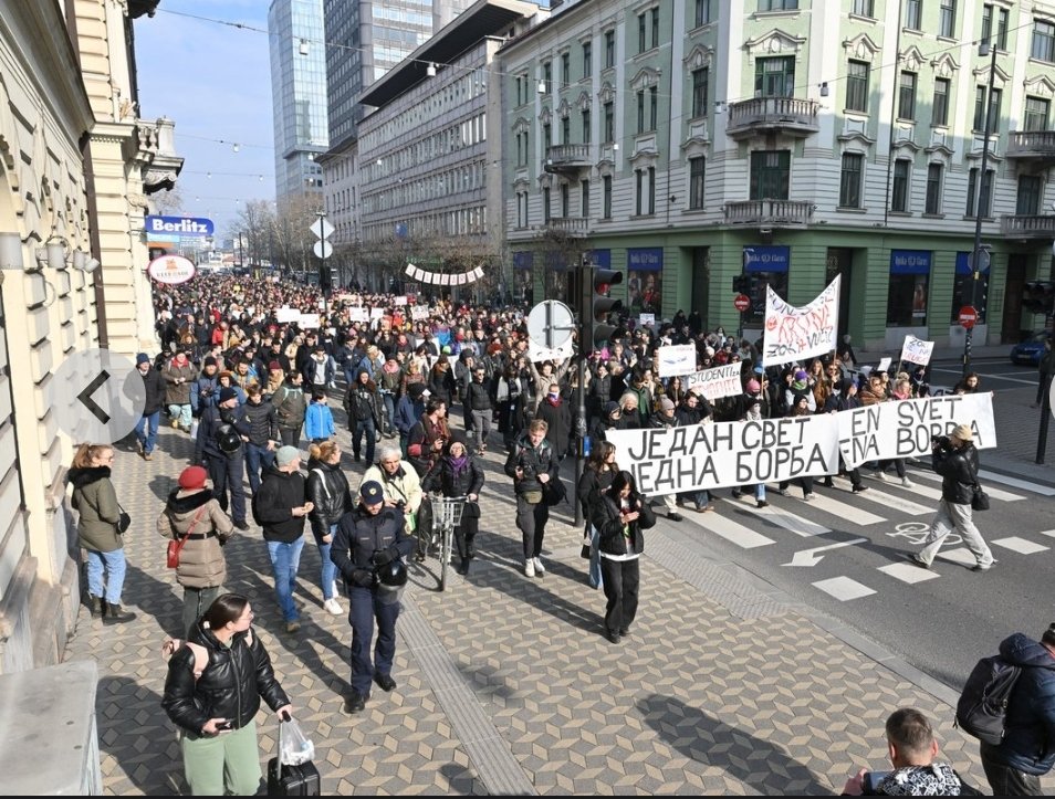
[[[181,646],[168,661],[161,707],[177,727],[200,736],[210,718],[229,718],[240,729],[257,716],[261,697],[272,711],[290,704],[252,628],[236,633],[224,646],[199,620],[188,641],[203,646],[209,659],[197,679],[190,646]]]

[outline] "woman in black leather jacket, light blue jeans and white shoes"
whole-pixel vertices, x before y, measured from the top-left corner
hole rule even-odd
[[[312,534],[318,546],[322,560],[320,585],[323,591],[323,607],[333,616],[343,616],[344,608],[337,601],[337,567],[330,557],[337,522],[355,507],[348,479],[341,470],[341,448],[336,441],[324,441],[309,448],[307,496],[312,502],[309,521]]]

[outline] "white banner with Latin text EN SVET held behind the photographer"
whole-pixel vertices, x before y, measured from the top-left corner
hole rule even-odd
[[[929,455],[931,439],[949,435],[957,424],[971,425],[978,449],[996,446],[992,392],[879,402],[831,416],[838,419],[839,449],[849,467]]]

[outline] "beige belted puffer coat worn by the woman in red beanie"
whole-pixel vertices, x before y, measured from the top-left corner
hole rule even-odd
[[[190,536],[179,551],[176,581],[184,588],[222,586],[227,560],[221,546],[234,535],[234,525],[208,488],[177,488],[168,495],[165,509],[157,517],[157,532],[163,538],[180,540],[188,530]]]

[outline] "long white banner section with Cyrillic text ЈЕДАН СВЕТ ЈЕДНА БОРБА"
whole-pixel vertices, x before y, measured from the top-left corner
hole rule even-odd
[[[605,438],[638,490],[654,496],[834,474],[839,462],[835,416],[609,430]]]

